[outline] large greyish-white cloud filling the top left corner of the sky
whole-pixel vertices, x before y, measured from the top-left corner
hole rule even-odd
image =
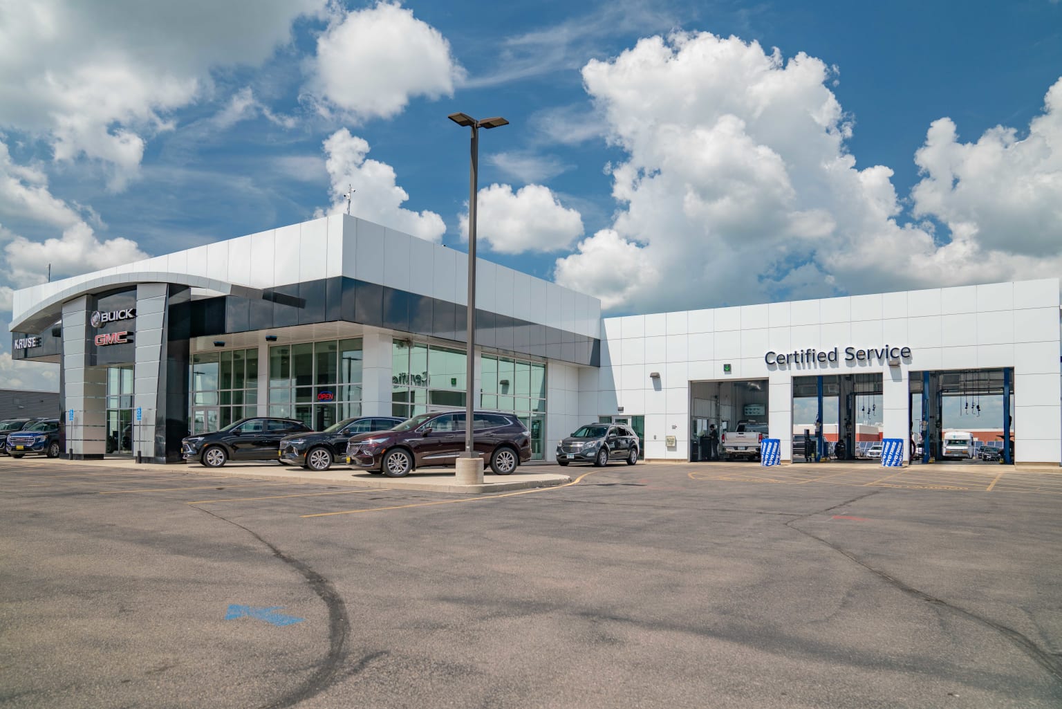
[[[211,68],[255,65],[326,0],[34,0],[0,6],[0,126],[87,157],[121,189],[145,140],[209,88]]]

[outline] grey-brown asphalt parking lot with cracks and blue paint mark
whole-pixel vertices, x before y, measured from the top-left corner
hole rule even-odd
[[[1062,706],[1062,473],[0,459],[0,706]]]

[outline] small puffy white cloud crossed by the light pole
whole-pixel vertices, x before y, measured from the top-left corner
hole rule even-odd
[[[579,212],[562,205],[543,185],[525,185],[515,193],[509,185],[491,185],[479,190],[476,204],[476,240],[498,253],[568,249],[583,234]],[[467,240],[468,213],[460,220]]]

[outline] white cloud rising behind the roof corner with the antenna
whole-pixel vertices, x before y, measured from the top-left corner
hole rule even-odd
[[[427,241],[441,241],[446,233],[443,218],[434,212],[412,212],[401,206],[409,199],[398,186],[394,168],[387,163],[370,159],[369,142],[340,129],[324,142],[325,169],[331,180],[331,206],[319,209],[324,214],[346,212],[346,195],[354,187],[350,214],[384,226],[396,229]]]

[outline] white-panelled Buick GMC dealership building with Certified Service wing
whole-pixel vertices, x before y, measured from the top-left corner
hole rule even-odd
[[[535,458],[614,421],[686,460],[750,420],[784,460],[817,422],[849,451],[866,424],[924,437],[928,459],[976,411],[1007,460],[1062,460],[1058,278],[602,319],[556,284],[476,276],[475,404],[517,413]],[[466,278],[464,253],[337,215],[18,290],[12,352],[59,364],[72,457],[176,462],[245,416],[464,407]]]

